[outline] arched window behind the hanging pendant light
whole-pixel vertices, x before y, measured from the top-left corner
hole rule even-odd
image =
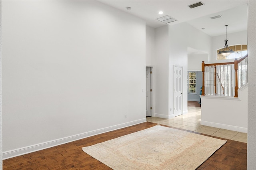
[[[222,49],[217,49],[216,51],[216,57],[217,60],[219,59],[235,59],[235,58],[240,58],[243,57],[244,55],[246,55],[247,52],[247,45],[246,44],[240,44],[240,45],[232,45],[229,46],[230,49],[232,49],[233,51],[235,51],[234,53],[230,54],[227,56],[227,58],[224,55],[218,54],[219,50]]]

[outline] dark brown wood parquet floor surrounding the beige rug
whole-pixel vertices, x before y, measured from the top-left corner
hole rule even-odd
[[[140,123],[131,127],[6,159],[3,160],[3,170],[111,170],[105,164],[82,151],[82,147],[104,142],[155,125],[157,124],[150,122]],[[226,144],[201,164],[197,170],[246,170],[246,155],[246,143],[228,140]]]

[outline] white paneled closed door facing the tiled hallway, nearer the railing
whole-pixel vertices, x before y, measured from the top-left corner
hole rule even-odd
[[[174,66],[174,116],[182,115],[182,67]]]

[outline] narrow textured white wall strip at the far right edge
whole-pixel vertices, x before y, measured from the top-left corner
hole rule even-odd
[[[248,144],[247,169],[256,169],[256,1],[248,5]]]

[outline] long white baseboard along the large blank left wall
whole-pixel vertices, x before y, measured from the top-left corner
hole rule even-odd
[[[84,133],[81,133],[81,134],[76,134],[76,135],[68,136],[68,137],[65,137],[65,138],[60,138],[60,139],[56,139],[56,140],[52,140],[52,141],[48,141],[48,142],[34,144],[34,145],[31,145],[31,146],[26,146],[26,147],[23,147],[23,148],[18,148],[18,149],[14,149],[14,150],[5,151],[5,152],[3,152],[3,155],[2,155],[3,160],[8,159],[8,158],[13,158],[15,156],[20,156],[20,155],[23,155],[23,154],[28,154],[28,153],[31,153],[31,152],[36,152],[38,150],[50,148],[50,147],[57,146],[57,145],[60,145],[60,144],[65,144],[65,143],[72,142],[72,141],[75,141],[75,140],[79,140],[79,139],[82,139],[82,138],[87,138],[89,136],[94,136],[96,134],[101,134],[101,133],[109,132],[109,131],[112,131],[112,130],[116,130],[116,129],[120,129],[120,128],[124,128],[124,127],[129,127],[129,126],[132,126],[132,125],[137,125],[139,123],[144,123],[146,121],[147,121],[146,118],[139,119],[139,120],[136,120],[136,121],[122,123],[122,124],[119,124],[119,125],[114,125],[114,126],[111,126],[111,127],[101,128],[101,129],[97,129],[97,130],[92,130],[92,131],[89,131],[89,132],[84,132]]]

